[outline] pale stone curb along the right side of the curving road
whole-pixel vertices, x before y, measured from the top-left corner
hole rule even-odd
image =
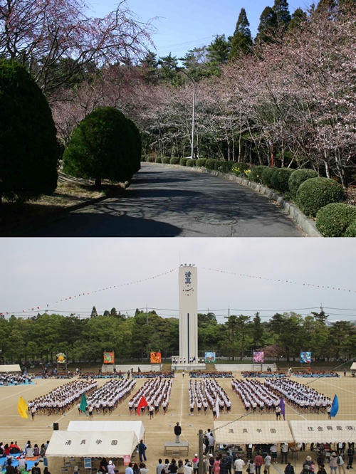
[[[268,197],[268,199],[273,199],[276,201],[278,206],[280,206],[290,218],[305,232],[306,236],[308,237],[323,237],[321,233],[315,226],[315,222],[313,219],[308,218],[305,214],[298,209],[297,206],[294,204],[290,204],[290,202],[285,201],[281,194],[278,194],[276,191],[272,191],[272,189],[263,186],[262,184],[255,183],[254,181],[248,181],[248,179],[240,178],[234,176],[234,174],[230,173],[221,173],[217,171],[213,171],[206,168],[196,168],[196,167],[182,167],[180,164],[165,164],[165,163],[150,163],[150,162],[142,162],[149,165],[159,165],[162,167],[174,167],[177,169],[185,169],[186,171],[194,171],[197,173],[204,173],[204,174],[211,174],[213,176],[227,179],[228,181],[234,181],[234,183],[241,184],[242,186],[247,186],[248,188],[253,189],[253,191],[258,192],[259,194],[263,194],[263,196]]]

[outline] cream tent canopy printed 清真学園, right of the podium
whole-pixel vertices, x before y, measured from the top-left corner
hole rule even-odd
[[[294,442],[288,421],[214,421],[213,435],[220,444]]]

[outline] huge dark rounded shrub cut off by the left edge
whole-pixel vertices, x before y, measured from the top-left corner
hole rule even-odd
[[[0,199],[53,193],[60,156],[46,97],[23,66],[0,60]]]

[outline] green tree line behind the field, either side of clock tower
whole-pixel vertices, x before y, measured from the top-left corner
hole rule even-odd
[[[265,351],[265,357],[287,361],[298,361],[300,351],[311,351],[313,358],[350,359],[356,354],[356,326],[348,321],[329,324],[323,311],[305,317],[276,313],[268,322],[262,322],[258,313],[253,318],[230,315],[218,322],[209,312],[198,315],[198,344],[200,353],[216,352],[233,360],[258,349]],[[151,351],[161,352],[164,359],[179,353],[179,320],[140,310],[126,317],[115,308],[98,315],[95,307],[87,319],[11,316],[0,319],[0,349],[4,362],[53,362],[58,352],[66,352],[68,362],[95,362],[105,351],[115,352],[119,360],[147,360]]]

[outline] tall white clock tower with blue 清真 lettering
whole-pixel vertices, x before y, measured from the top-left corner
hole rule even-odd
[[[179,359],[182,364],[198,363],[197,267],[179,266]]]

